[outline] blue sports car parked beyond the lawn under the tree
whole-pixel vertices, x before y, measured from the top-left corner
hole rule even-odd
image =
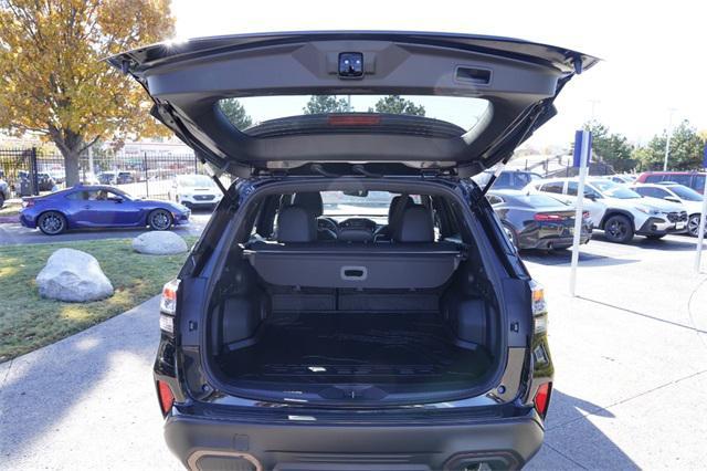
[[[191,211],[170,201],[136,199],[107,186],[76,186],[23,202],[20,222],[49,236],[67,229],[144,228],[163,231],[189,222]]]

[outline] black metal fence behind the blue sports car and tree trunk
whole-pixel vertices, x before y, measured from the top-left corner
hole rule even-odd
[[[167,198],[175,177],[189,174],[205,174],[193,154],[94,153],[78,160],[82,184],[117,186],[136,197]],[[62,189],[64,157],[35,147],[0,149],[0,179],[17,198]]]

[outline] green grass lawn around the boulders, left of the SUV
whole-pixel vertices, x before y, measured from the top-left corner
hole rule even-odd
[[[187,237],[191,245],[197,238]],[[51,344],[159,294],[175,278],[186,254],[144,255],[131,239],[0,247],[0,362]],[[91,253],[115,289],[112,297],[92,303],[41,299],[34,278],[61,248]]]

